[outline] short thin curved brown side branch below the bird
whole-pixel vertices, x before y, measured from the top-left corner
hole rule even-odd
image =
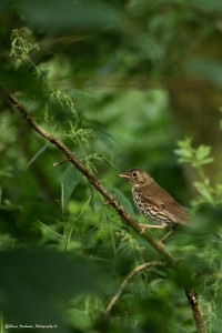
[[[149,268],[153,268],[153,266],[161,266],[161,268],[165,268],[168,266],[167,262],[163,261],[153,261],[153,262],[147,262],[140,266],[137,266],[134,270],[132,270],[128,276],[123,280],[123,282],[121,283],[119,291],[115,293],[115,295],[111,299],[110,303],[107,306],[107,313],[109,314],[112,311],[113,305],[117,303],[117,301],[119,300],[120,295],[122,294],[123,290],[125,289],[127,284],[130,282],[130,280],[139,272],[149,269]]]

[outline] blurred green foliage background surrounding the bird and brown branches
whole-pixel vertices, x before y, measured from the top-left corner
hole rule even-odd
[[[184,276],[200,293],[209,332],[221,332],[222,246],[211,232],[220,235],[222,221],[222,2],[1,0],[0,19],[0,82],[36,121],[139,221],[129,184],[117,178],[134,167],[194,216],[191,231],[167,244],[185,273],[139,273],[105,316],[129,272],[160,258],[73,167],[53,167],[64,157],[2,90],[2,332],[6,323],[194,332]]]

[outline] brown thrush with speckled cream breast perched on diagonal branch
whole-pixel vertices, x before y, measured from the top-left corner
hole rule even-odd
[[[161,188],[154,179],[142,169],[130,169],[118,176],[127,179],[132,185],[132,198],[138,211],[155,224],[140,224],[145,228],[171,228],[161,239],[164,241],[178,224],[186,224],[189,213],[170,193]]]

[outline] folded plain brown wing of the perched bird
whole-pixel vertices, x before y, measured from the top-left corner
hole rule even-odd
[[[162,189],[158,183],[153,183],[143,191],[143,198],[157,209],[160,209],[169,220],[174,222],[188,222],[189,214],[185,212],[182,205],[178,203],[164,189]]]

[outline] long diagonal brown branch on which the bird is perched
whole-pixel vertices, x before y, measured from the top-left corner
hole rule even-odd
[[[175,265],[178,260],[164,249],[164,244],[161,241],[158,241],[152,236],[152,234],[148,231],[141,234],[141,229],[137,220],[132,219],[131,215],[124,210],[124,208],[115,200],[115,198],[107,191],[107,189],[97,180],[97,178],[88,171],[88,169],[78,160],[78,158],[64,145],[60,140],[58,140],[54,135],[43,130],[29,114],[26,108],[20,103],[17,97],[6,91],[6,89],[0,84],[2,91],[7,94],[9,101],[19,110],[23,119],[28,122],[28,124],[38,132],[41,137],[46,138],[52,144],[57,145],[57,148],[70,160],[70,162],[80,171],[88,181],[108,200],[108,202],[114,208],[114,210],[120,215],[121,220],[124,223],[128,223],[134,231],[140,233],[140,235],[145,239],[162,256],[165,258],[169,265]],[[198,295],[193,290],[185,290],[186,297],[191,305],[193,316],[195,320],[195,325],[198,333],[204,333],[204,322],[201,313],[201,309],[198,301]]]

